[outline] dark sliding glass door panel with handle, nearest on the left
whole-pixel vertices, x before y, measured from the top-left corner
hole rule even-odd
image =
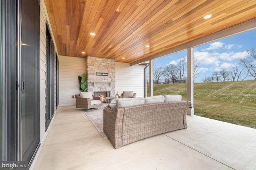
[[[40,6],[37,0],[20,2],[18,150],[21,160],[28,161],[40,142]]]

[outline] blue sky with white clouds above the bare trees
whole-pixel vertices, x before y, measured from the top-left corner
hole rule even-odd
[[[256,47],[256,29],[194,47],[194,59],[199,64],[199,74],[195,82],[202,82],[204,77],[209,77],[214,71],[222,68],[229,69],[234,64],[239,67],[240,59],[247,57],[246,51],[252,47]],[[165,67],[184,57],[187,57],[186,50],[155,59],[154,66]]]

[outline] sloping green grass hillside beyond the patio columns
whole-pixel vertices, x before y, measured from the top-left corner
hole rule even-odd
[[[155,84],[154,96],[180,94],[186,84]],[[256,80],[194,83],[194,114],[256,129]]]

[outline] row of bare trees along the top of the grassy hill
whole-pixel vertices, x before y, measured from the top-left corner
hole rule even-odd
[[[202,82],[225,82],[225,81],[241,81],[247,77],[256,80],[256,47],[252,47],[246,51],[249,55],[245,59],[240,60],[240,64],[232,64],[231,68],[222,68],[215,71],[210,76],[205,76]],[[193,78],[197,78],[200,74],[200,64],[194,61]],[[170,83],[186,83],[186,58],[179,59],[175,64],[168,64],[166,67],[154,66],[154,84],[170,84]],[[147,83],[149,83],[147,78]]]

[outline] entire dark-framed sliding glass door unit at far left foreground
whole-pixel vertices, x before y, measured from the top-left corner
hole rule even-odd
[[[30,161],[40,143],[40,6],[0,0],[0,160]]]

